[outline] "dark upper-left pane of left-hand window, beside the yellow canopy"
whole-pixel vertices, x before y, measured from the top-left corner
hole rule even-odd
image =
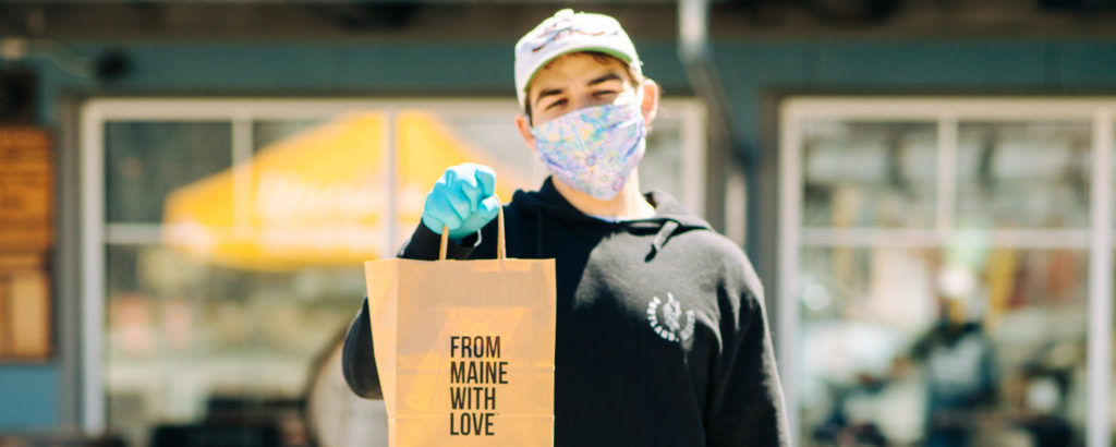
[[[229,123],[106,123],[105,216],[157,224],[171,190],[228,169],[231,160]]]

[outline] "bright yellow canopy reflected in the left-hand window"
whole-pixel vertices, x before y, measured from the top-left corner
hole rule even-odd
[[[394,122],[394,215],[404,235],[419,224],[426,192],[446,167],[492,167],[504,200],[528,187],[527,175],[471,149],[429,113],[402,112]],[[358,264],[394,254],[398,247],[387,240],[393,213],[385,123],[378,112],[343,116],[173,191],[164,208],[164,242],[251,269]]]

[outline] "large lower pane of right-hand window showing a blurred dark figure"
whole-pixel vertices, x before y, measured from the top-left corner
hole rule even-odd
[[[1083,443],[1087,251],[970,249],[802,251],[805,445]]]

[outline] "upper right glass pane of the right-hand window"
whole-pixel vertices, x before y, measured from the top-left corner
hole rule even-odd
[[[1087,122],[961,123],[960,221],[1088,227],[1090,132]]]

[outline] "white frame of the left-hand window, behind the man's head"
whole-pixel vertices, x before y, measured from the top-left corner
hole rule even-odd
[[[680,201],[694,213],[704,215],[706,133],[705,106],[695,98],[668,98],[661,107],[682,122]],[[78,115],[80,132],[80,275],[81,275],[81,427],[89,434],[103,432],[105,419],[105,249],[109,244],[157,244],[158,224],[107,224],[105,221],[105,123],[128,122],[230,122],[232,125],[232,164],[251,163],[252,123],[258,120],[317,120],[354,112],[381,112],[387,117],[383,135],[385,165],[396,164],[395,116],[405,110],[434,110],[450,114],[496,112],[508,114],[508,125],[519,113],[510,99],[497,98],[258,98],[258,97],[137,97],[94,98],[81,105]],[[525,148],[525,150],[527,150]],[[248,172],[249,170],[244,170]],[[536,172],[541,177],[541,172]],[[233,179],[234,202],[247,200],[250,178]],[[394,213],[396,177],[388,170],[384,179],[387,207],[393,216],[386,221],[385,246],[400,242],[401,229]],[[247,206],[234,207],[250,209]]]

